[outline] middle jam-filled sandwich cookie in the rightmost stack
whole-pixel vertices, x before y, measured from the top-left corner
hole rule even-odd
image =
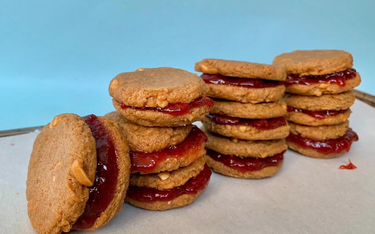
[[[309,126],[341,124],[350,116],[356,97],[352,91],[322,96],[285,94],[287,120]]]

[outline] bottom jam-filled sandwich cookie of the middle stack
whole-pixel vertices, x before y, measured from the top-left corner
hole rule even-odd
[[[223,137],[204,130],[207,164],[217,173],[227,176],[260,179],[275,175],[282,167],[285,139],[240,140]]]

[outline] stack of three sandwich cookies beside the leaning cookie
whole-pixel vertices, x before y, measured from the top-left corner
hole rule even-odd
[[[211,176],[207,137],[192,125],[213,106],[204,82],[180,69],[138,69],[113,78],[109,93],[117,112],[106,116],[117,122],[130,148],[125,201],[148,210],[192,203]]]

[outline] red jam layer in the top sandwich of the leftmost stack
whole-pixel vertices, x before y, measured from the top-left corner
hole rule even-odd
[[[194,101],[190,103],[181,103],[181,102],[169,103],[165,107],[160,107],[160,106],[137,107],[137,106],[127,106],[123,103],[120,104],[120,107],[122,109],[132,108],[134,110],[152,110],[152,111],[162,112],[162,113],[173,115],[173,116],[185,115],[189,113],[190,109],[202,107],[202,106],[208,106],[208,107],[213,106],[213,100],[209,97],[197,97],[195,98]]]

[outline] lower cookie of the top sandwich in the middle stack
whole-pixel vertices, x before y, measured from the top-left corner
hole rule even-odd
[[[223,84],[206,84],[207,96],[242,103],[275,102],[285,92],[284,85],[267,88],[245,88]]]

